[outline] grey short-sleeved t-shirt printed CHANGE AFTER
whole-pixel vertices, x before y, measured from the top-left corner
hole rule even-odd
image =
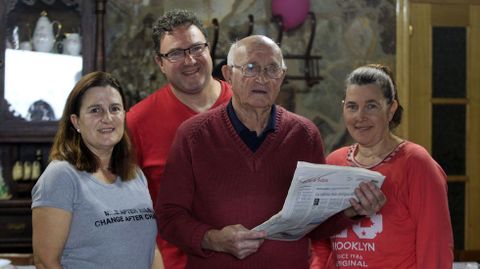
[[[157,225],[147,180],[101,183],[66,161],[52,161],[32,190],[32,208],[72,213],[62,253],[65,269],[147,269],[155,250]]]

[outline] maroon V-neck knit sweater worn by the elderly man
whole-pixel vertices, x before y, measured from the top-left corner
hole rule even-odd
[[[226,106],[180,126],[157,200],[163,238],[184,249],[187,268],[308,268],[309,240],[266,240],[243,260],[201,249],[209,229],[242,224],[251,229],[283,205],[297,161],[324,163],[320,133],[309,120],[277,107],[276,130],[253,153],[236,134]],[[311,236],[351,225],[338,214]]]

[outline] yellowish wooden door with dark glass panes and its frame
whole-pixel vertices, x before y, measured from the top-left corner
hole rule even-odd
[[[448,176],[455,249],[480,249],[480,1],[398,0],[401,134]]]

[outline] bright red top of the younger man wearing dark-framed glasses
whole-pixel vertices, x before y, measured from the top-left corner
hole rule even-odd
[[[232,96],[230,85],[224,81],[222,91],[213,107],[227,103]],[[155,91],[133,106],[127,113],[127,126],[137,152],[138,165],[148,180],[148,189],[155,202],[167,155],[178,126],[197,115],[175,97],[170,84]],[[186,257],[176,247],[157,237],[166,269],[183,269]]]

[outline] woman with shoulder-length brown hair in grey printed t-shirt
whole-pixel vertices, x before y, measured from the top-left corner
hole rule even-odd
[[[163,268],[147,181],[132,156],[120,84],[108,73],[85,75],[32,190],[39,268]]]

